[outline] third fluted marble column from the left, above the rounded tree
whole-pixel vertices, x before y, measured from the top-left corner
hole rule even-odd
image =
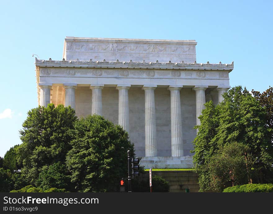
[[[91,114],[102,115],[102,100],[101,100],[101,90],[104,85],[102,84],[92,84],[90,88],[92,89],[92,112]]]

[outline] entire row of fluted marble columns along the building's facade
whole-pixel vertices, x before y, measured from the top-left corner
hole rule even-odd
[[[64,84],[65,88],[65,107],[71,106],[75,109],[75,89],[76,84]],[[91,85],[92,89],[92,112],[91,114],[102,115],[102,96],[101,90],[104,85]],[[131,85],[117,85],[119,90],[119,125],[130,134],[129,126],[129,101],[128,90]],[[156,145],[156,118],[155,118],[155,101],[154,89],[157,85],[143,85],[145,91],[145,156],[157,156]],[[183,141],[182,141],[182,115],[181,115],[181,100],[180,90],[183,86],[169,86],[168,90],[171,93],[171,149],[172,157],[183,156]],[[40,85],[40,105],[47,106],[50,103],[51,85]],[[204,109],[205,90],[208,86],[195,86],[196,95],[196,124],[200,125],[199,116]],[[222,94],[228,90],[228,87],[218,87],[218,93],[211,93],[211,99],[214,104],[218,104],[223,100]]]

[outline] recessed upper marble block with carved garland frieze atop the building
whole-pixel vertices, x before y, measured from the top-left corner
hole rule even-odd
[[[68,41],[64,56],[67,60],[99,59],[102,61],[159,60],[168,62],[194,62],[196,60],[195,41],[191,42],[128,42],[128,41]]]

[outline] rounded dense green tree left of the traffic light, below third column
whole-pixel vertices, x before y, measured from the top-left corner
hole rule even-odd
[[[77,121],[73,132],[66,164],[76,190],[117,191],[119,180],[128,173],[127,150],[134,151],[128,133],[98,115]]]

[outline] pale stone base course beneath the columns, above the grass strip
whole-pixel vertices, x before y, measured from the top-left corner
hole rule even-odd
[[[145,169],[173,169],[173,168],[193,168],[193,156],[180,156],[180,157],[142,157],[140,166]]]

